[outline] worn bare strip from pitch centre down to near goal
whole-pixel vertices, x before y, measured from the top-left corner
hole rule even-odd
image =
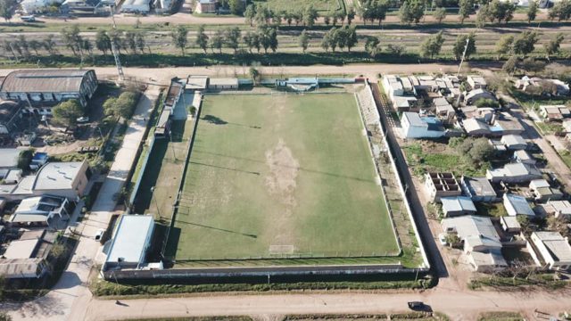
[[[294,158],[292,151],[285,145],[283,139],[279,139],[276,147],[266,152],[266,164],[269,167],[266,177],[266,187],[269,194],[277,201],[277,209],[269,218],[272,221],[270,232],[272,242],[270,252],[278,254],[278,249],[286,249],[290,254],[294,252],[294,208],[296,178],[300,164]],[[278,250],[279,251],[279,250]]]

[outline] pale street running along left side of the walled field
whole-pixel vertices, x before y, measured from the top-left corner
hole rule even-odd
[[[125,184],[128,171],[133,166],[137,148],[143,139],[147,121],[154,102],[160,93],[159,86],[149,86],[141,96],[133,119],[123,139],[120,150],[92,208],[91,214],[77,227],[81,233],[78,246],[62,278],[46,296],[23,304],[4,304],[14,320],[83,320],[86,306],[92,300],[87,289],[89,271],[96,258],[104,258],[102,246],[94,236],[100,228],[106,228],[116,206],[117,194]]]

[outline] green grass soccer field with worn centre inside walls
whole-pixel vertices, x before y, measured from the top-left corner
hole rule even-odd
[[[393,256],[350,94],[206,95],[168,256]]]

